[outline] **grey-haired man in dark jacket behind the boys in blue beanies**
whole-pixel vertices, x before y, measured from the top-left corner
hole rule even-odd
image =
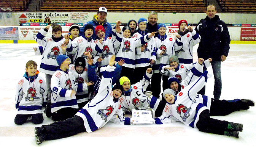
[[[152,33],[152,32],[157,32],[158,31],[158,24],[157,24],[157,20],[158,20],[158,14],[156,11],[151,11],[148,14],[148,23],[147,23],[147,27],[146,29]],[[155,37],[157,37],[157,34],[155,34]]]

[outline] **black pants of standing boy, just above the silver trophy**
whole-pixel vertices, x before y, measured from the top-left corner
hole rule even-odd
[[[163,91],[168,88],[168,78],[169,76],[162,75],[160,73],[155,73],[152,75],[151,78],[151,91],[152,95],[159,98],[159,95],[161,93],[161,80],[163,80]],[[169,85],[170,88],[170,85]]]

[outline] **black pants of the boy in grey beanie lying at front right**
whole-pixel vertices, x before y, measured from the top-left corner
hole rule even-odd
[[[199,115],[199,121],[197,122],[196,127],[202,132],[224,135],[228,123],[229,122],[225,120],[210,118],[210,112],[206,109]]]

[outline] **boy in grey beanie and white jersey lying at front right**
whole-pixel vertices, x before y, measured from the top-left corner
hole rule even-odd
[[[175,91],[166,89],[163,95],[167,104],[162,116],[155,119],[156,124],[180,121],[183,122],[184,125],[198,128],[199,131],[239,138],[239,131],[243,130],[242,124],[210,118],[210,116],[212,116],[210,110],[215,112],[216,108],[214,107],[219,107],[219,105],[208,105],[208,103],[205,103],[208,99],[207,97],[204,102],[200,102],[198,99],[199,95],[197,95],[197,92],[205,85],[207,73],[208,72],[205,71],[198,80],[189,84],[176,96]],[[248,104],[246,106],[247,108],[249,108],[249,106],[255,106],[255,103],[251,100],[239,101]],[[245,109],[245,107],[242,108]],[[224,111],[226,109],[227,108],[224,108],[224,110],[222,110],[222,114],[225,113]]]

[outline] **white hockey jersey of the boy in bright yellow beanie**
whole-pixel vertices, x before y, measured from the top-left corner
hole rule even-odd
[[[135,108],[145,109],[148,106],[144,92],[150,83],[152,75],[153,73],[149,74],[146,72],[140,82],[135,83],[130,87],[130,94],[124,94],[120,97],[119,102],[124,113],[127,111],[132,112],[132,109]]]

